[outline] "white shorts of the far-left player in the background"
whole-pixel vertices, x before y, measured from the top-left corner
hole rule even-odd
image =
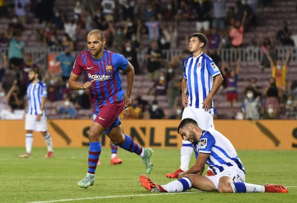
[[[38,132],[47,131],[47,117],[42,115],[40,121],[36,121],[37,115],[26,114],[25,130],[33,130]]]

